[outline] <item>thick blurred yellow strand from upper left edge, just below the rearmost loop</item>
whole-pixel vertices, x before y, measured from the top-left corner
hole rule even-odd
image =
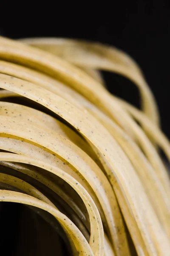
[[[24,64],[25,66],[32,67],[65,81],[115,119],[129,134],[132,133],[132,129],[129,126],[130,124],[128,124],[126,120],[127,116],[125,118],[125,113],[122,112],[119,105],[110,99],[108,91],[105,90],[104,87],[99,86],[96,80],[87,76],[82,70],[68,64],[61,58],[54,57],[49,53],[44,53],[40,49],[26,47],[24,44],[19,44],[19,42],[16,44],[14,41],[10,41],[6,38],[0,38],[0,42],[1,58],[5,60],[9,58],[11,61],[14,59],[14,61],[19,64]]]

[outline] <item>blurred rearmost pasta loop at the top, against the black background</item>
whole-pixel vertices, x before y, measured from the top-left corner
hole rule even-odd
[[[64,58],[78,67],[112,71],[127,77],[139,88],[144,112],[155,124],[159,124],[153,94],[140,68],[125,52],[99,43],[65,38],[24,38],[22,41]]]

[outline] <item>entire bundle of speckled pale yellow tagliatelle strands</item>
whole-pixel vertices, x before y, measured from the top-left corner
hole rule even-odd
[[[99,70],[132,80],[141,110],[111,95]],[[158,149],[170,160],[170,143],[130,56],[0,37],[0,88],[0,201],[40,215],[67,247],[59,256],[170,255],[170,179]]]

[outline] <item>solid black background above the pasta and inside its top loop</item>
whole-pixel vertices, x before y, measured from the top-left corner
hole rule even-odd
[[[162,129],[170,138],[169,122],[169,1],[102,1],[2,3],[0,34],[10,38],[66,37],[111,44],[140,65],[161,113]],[[39,6],[36,6],[39,3]],[[136,106],[136,87],[127,79],[105,73],[109,90]]]

